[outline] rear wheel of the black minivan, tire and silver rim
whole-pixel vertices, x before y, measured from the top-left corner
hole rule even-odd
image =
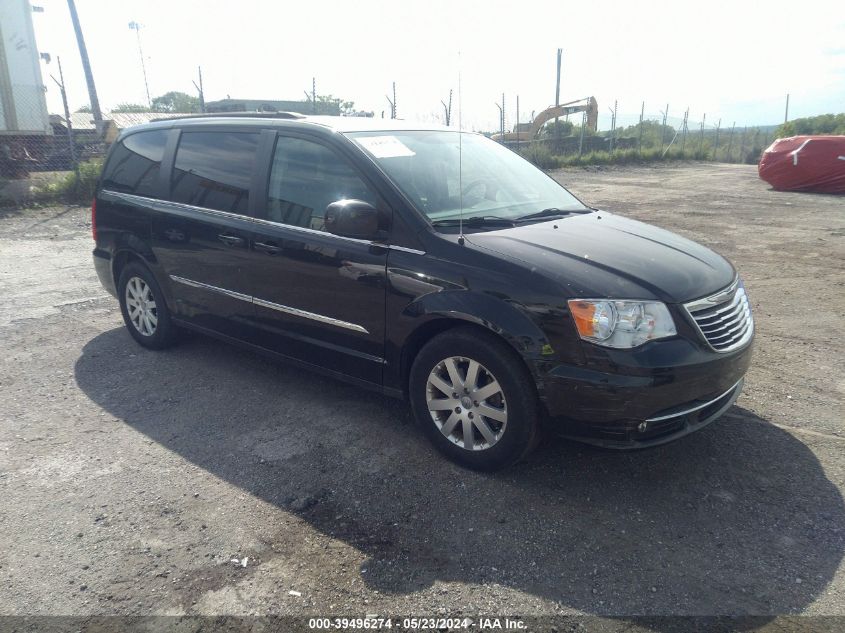
[[[149,268],[129,262],[120,273],[117,296],[126,329],[139,345],[165,349],[176,342],[178,331]]]

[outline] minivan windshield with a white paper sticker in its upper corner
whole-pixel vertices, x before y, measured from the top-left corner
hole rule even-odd
[[[462,134],[459,160],[461,134],[444,130],[348,136],[435,224],[448,224],[461,215],[464,220],[517,220],[543,211],[548,216],[589,210],[534,165],[479,134]]]

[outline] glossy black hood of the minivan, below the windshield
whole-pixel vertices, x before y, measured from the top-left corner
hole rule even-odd
[[[465,239],[561,283],[569,297],[682,303],[721,290],[736,274],[709,248],[605,211]]]

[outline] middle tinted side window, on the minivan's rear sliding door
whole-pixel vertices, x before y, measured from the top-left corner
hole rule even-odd
[[[258,134],[182,132],[170,199],[246,215],[257,148]]]

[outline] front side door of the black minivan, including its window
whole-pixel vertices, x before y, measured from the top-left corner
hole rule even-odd
[[[335,149],[279,135],[249,245],[261,344],[381,384],[388,249],[324,230],[326,207],[384,203]]]

